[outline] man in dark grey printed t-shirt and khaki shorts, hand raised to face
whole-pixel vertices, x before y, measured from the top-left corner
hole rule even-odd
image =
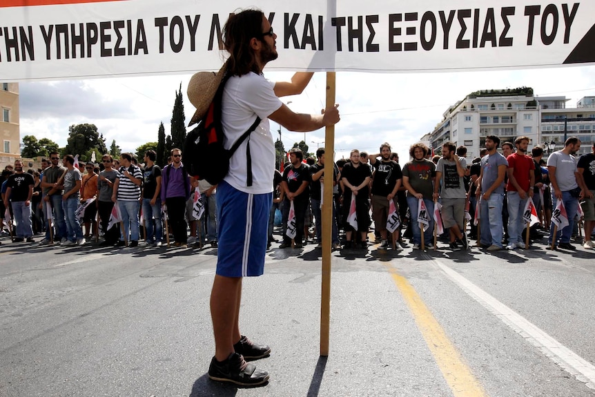
[[[465,224],[465,202],[467,200],[467,190],[463,178],[466,170],[467,160],[465,157],[456,155],[456,145],[453,142],[442,144],[442,157],[436,164],[436,184],[434,185],[433,200],[436,202],[438,197],[442,198],[440,213],[442,214],[443,226],[449,229],[449,248],[453,251],[458,251],[457,242],[465,251],[469,249],[467,233],[463,229]],[[440,190],[439,194],[438,188],[440,186],[442,186],[442,190]],[[438,215],[440,214],[436,214],[435,218]]]

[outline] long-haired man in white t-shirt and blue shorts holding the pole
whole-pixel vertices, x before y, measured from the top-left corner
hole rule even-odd
[[[277,35],[262,11],[243,10],[231,14],[222,38],[229,59],[220,70],[220,76],[215,75],[214,79],[221,79],[225,71],[228,73],[222,97],[225,148],[231,148],[257,117],[262,121],[250,139],[242,142],[235,151],[228,174],[217,186],[219,249],[211,292],[215,356],[208,376],[213,380],[255,386],[266,384],[269,374],[257,370],[252,362],[244,359],[264,358],[269,356],[271,349],[242,336],[239,317],[243,278],[264,272],[266,231],[273,193],[271,181],[275,171],[275,142],[269,119],[288,130],[307,132],[335,124],[339,121],[339,112],[335,105],[326,108],[322,115],[306,115],[294,113],[282,103],[279,97],[302,93],[313,73],[298,72],[287,82],[272,83],[264,78],[264,66],[277,58]],[[218,82],[213,84],[215,90],[218,85]],[[193,87],[204,93],[204,103],[195,100],[201,95]],[[192,79],[188,85],[188,99],[197,107],[193,120],[200,119],[213,100],[215,90],[207,96],[206,88],[208,86],[196,87]],[[251,186],[247,186],[248,142],[251,158],[257,159],[251,164]]]

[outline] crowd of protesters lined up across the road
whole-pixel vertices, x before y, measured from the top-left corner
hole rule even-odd
[[[581,142],[571,137],[545,162],[542,147],[528,153],[529,142],[500,144],[490,135],[469,162],[467,149],[451,142],[441,155],[414,144],[404,164],[388,143],[378,153],[351,151],[333,164],[332,249],[378,244],[401,251],[409,241],[413,249],[436,249],[439,242],[457,251],[476,240],[499,251],[528,249],[527,242],[545,236],[548,249],[573,250],[572,240],[581,239],[593,249],[595,146],[577,157]],[[282,173],[275,172],[269,249],[274,242],[280,249],[322,248],[324,148],[315,154],[304,158],[293,148]],[[188,175],[177,148],[163,168],[155,157],[155,151],[142,162],[130,153],[106,154],[93,164],[54,152],[37,171],[23,171],[17,159],[1,175],[0,237],[32,243],[43,235],[39,244],[62,246],[216,247],[217,186]]]

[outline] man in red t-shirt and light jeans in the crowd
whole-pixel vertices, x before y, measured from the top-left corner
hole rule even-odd
[[[523,242],[523,211],[527,205],[527,199],[533,197],[535,185],[535,164],[531,157],[527,156],[528,137],[518,137],[514,140],[516,152],[506,157],[508,161],[506,185],[508,198],[508,245],[506,249],[516,247],[527,248]]]

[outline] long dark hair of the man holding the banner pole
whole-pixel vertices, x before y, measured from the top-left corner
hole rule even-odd
[[[250,41],[253,37],[262,38],[262,15],[260,10],[244,10],[231,14],[225,23],[222,36],[229,52],[227,72],[232,76],[260,73]]]

